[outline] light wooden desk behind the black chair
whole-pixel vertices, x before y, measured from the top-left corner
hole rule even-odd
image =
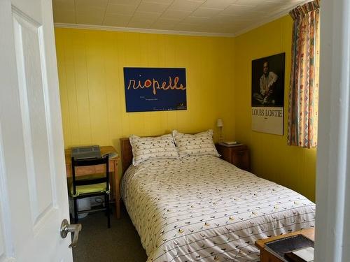
[[[116,153],[116,149],[112,146],[100,147],[101,154]],[[71,177],[71,150],[64,150],[64,155],[66,157],[66,176]],[[119,177],[118,177],[118,160],[119,157],[114,157],[109,159],[109,172],[113,173],[109,177],[111,190],[112,190],[112,201],[116,203],[116,217],[120,217],[120,194],[119,194]],[[106,168],[103,165],[98,166],[80,166],[76,167],[76,175],[90,175],[94,173],[103,173]]]

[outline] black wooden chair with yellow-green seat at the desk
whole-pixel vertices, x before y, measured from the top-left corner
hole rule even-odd
[[[76,167],[78,166],[95,166],[102,165],[106,167],[106,173],[104,174],[94,174],[94,175],[84,175],[76,177]],[[71,168],[72,168],[72,180],[69,185],[69,194],[73,198],[74,203],[74,223],[78,223],[78,214],[83,214],[87,212],[97,212],[106,210],[107,214],[107,225],[108,228],[111,227],[110,214],[111,210],[109,208],[109,193],[111,188],[109,186],[109,155],[100,159],[79,159],[76,160],[74,157],[71,158]],[[104,196],[104,208],[98,208],[93,210],[81,210],[78,211],[77,201],[80,198],[87,198],[91,196]]]

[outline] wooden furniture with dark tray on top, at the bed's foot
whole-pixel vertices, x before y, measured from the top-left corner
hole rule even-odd
[[[281,262],[281,259],[277,259],[276,256],[274,256],[273,254],[265,250],[265,243],[273,240],[277,240],[280,238],[290,237],[291,235],[298,235],[298,234],[302,234],[311,240],[315,239],[314,228],[309,228],[309,229],[295,231],[284,235],[276,235],[271,238],[265,238],[262,240],[255,241],[255,246],[258,247],[258,249],[260,249],[260,262]]]

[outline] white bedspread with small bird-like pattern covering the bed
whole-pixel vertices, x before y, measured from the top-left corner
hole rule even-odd
[[[315,220],[304,196],[212,156],[131,166],[121,194],[148,261],[255,261],[255,240]]]

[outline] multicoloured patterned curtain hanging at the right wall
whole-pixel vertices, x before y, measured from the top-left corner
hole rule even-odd
[[[290,11],[294,20],[288,108],[288,145],[317,146],[319,0]]]

